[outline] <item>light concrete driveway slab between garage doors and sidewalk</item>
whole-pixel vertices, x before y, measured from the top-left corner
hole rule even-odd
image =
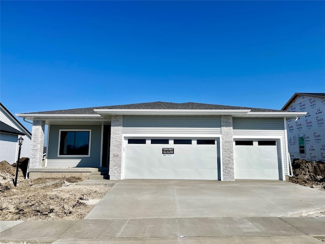
[[[280,180],[121,180],[87,220],[288,217],[325,210],[325,192]]]

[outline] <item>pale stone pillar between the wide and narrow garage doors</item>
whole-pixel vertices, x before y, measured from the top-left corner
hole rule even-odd
[[[221,116],[221,141],[222,141],[222,179],[224,181],[235,180],[234,166],[234,136],[233,117]]]

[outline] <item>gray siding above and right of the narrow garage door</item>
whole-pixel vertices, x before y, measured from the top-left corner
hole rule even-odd
[[[255,138],[280,137],[282,139],[281,153],[284,173],[287,175],[286,138],[283,118],[233,118],[234,137],[254,136]]]

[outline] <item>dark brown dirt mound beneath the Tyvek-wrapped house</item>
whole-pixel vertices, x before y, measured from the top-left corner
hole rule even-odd
[[[294,177],[289,178],[290,182],[325,191],[324,162],[294,159],[292,166]]]

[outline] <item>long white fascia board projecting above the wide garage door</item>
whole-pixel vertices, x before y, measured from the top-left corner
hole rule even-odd
[[[111,115],[236,115],[250,109],[94,109],[99,114]]]

